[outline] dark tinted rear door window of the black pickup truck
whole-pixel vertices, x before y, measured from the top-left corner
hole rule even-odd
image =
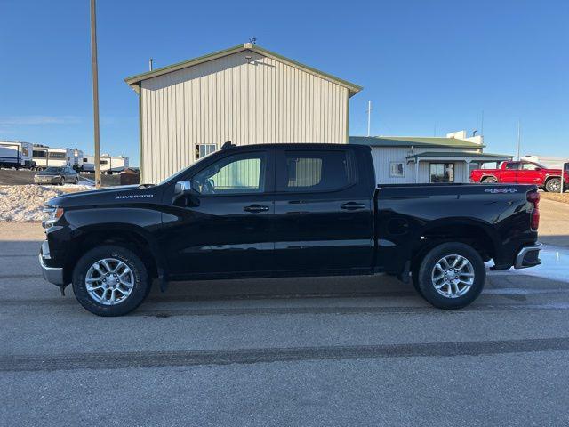
[[[279,191],[330,191],[357,181],[351,151],[286,151]]]

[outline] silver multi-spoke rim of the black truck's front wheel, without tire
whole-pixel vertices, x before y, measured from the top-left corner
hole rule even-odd
[[[93,262],[85,276],[89,296],[103,305],[124,302],[134,287],[134,274],[124,262],[105,258]]]

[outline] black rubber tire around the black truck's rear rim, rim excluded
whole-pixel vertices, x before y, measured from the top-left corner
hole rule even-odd
[[[473,284],[469,290],[453,298],[437,292],[432,280],[435,265],[447,255],[461,255],[466,258],[474,271]],[[421,296],[439,309],[461,309],[477,299],[482,292],[486,280],[486,268],[480,254],[469,245],[460,242],[449,242],[435,246],[423,258],[417,274],[417,286]]]

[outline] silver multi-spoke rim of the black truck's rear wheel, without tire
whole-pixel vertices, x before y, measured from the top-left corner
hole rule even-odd
[[[446,255],[433,267],[431,279],[439,294],[458,298],[474,285],[474,267],[462,255]]]

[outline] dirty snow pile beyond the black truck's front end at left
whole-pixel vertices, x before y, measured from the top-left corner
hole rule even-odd
[[[42,221],[44,203],[61,194],[60,189],[39,185],[0,186],[0,222]]]

